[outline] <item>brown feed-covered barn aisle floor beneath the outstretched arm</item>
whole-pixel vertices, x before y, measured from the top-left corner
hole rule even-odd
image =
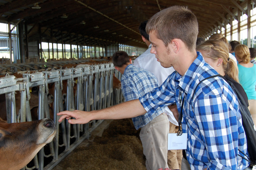
[[[53,170],[146,170],[131,119],[105,120]]]

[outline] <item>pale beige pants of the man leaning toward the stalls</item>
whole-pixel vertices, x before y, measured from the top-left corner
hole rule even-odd
[[[167,134],[169,132],[169,120],[162,113],[154,120],[141,128],[139,137],[143,146],[143,154],[146,157],[147,170],[168,168],[167,165]]]

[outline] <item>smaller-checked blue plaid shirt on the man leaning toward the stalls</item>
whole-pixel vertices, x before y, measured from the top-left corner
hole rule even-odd
[[[158,87],[157,79],[154,74],[141,68],[129,64],[121,78],[122,94],[125,101],[139,99],[140,96]],[[149,111],[144,115],[132,118],[134,127],[138,130],[144,127],[151,120],[163,113],[165,107]],[[132,112],[132,111],[131,111]]]

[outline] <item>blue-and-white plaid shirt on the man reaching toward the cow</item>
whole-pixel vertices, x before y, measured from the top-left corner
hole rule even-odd
[[[183,109],[183,133],[188,133],[186,156],[192,170],[243,170],[249,164],[238,156],[238,149],[248,153],[237,98],[220,77],[204,80],[195,90],[201,80],[217,74],[201,53],[197,54],[184,76],[174,72],[139,100],[146,111],[175,102],[179,112]],[[180,108],[183,98],[184,107]]]

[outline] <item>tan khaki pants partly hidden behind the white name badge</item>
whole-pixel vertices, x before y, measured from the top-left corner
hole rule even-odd
[[[178,126],[169,122],[169,133],[177,133]],[[168,150],[168,166],[172,170],[181,170],[182,150]]]

